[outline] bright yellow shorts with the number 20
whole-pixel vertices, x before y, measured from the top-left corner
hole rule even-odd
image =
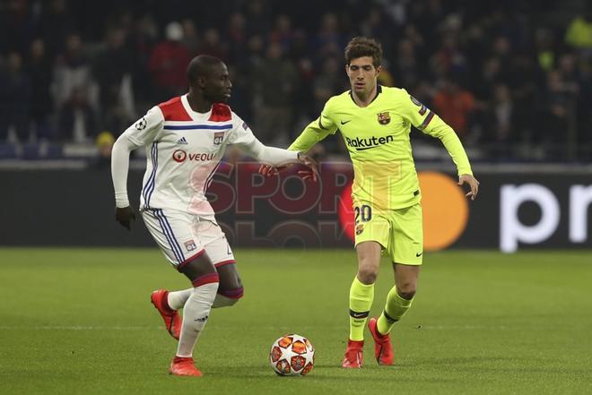
[[[372,210],[370,203],[354,202],[355,245],[375,241],[395,263],[421,265],[423,258],[422,205],[398,210]]]

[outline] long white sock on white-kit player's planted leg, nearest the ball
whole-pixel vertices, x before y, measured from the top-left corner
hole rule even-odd
[[[178,339],[177,356],[193,356],[193,348],[204,330],[217,290],[217,282],[193,288],[183,307],[183,325]]]

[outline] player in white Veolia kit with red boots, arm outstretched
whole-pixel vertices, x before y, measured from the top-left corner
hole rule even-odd
[[[205,198],[224,150],[236,145],[274,166],[300,162],[315,170],[315,164],[300,152],[266,147],[223,104],[231,97],[232,84],[220,59],[196,56],[187,66],[187,79],[187,94],[152,107],[118,138],[111,175],[115,218],[130,229],[135,212],[127,199],[129,153],[145,148],[147,165],[140,199],[144,224],[167,260],[193,286],[175,292],[159,289],[151,300],[170,335],[178,339],[170,374],[201,376],[193,349],[210,309],[234,305],[243,295],[231,247]]]

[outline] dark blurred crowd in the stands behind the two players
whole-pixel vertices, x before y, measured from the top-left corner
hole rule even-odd
[[[0,144],[112,142],[183,94],[189,59],[209,54],[229,65],[233,110],[285,145],[348,89],[344,47],[365,35],[384,48],[380,83],[411,92],[485,159],[590,159],[587,2],[190,3],[0,1]]]

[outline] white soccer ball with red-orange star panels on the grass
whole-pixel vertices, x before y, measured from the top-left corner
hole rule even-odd
[[[315,365],[315,348],[304,336],[282,336],[272,344],[269,364],[281,376],[303,376]]]

